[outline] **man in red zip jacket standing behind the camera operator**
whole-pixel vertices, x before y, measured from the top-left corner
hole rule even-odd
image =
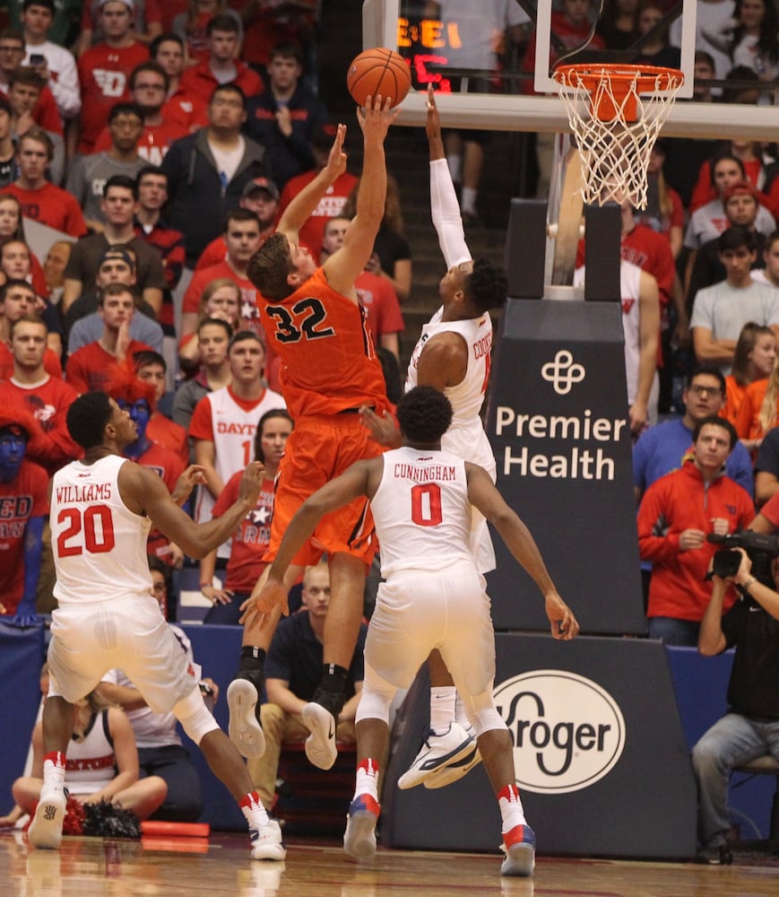
[[[754,517],[749,494],[723,471],[736,442],[730,422],[703,418],[693,433],[693,457],[645,492],[638,509],[638,549],[641,560],[653,564],[650,638],[697,645],[712,588],[705,573],[716,551],[706,536],[745,529]]]

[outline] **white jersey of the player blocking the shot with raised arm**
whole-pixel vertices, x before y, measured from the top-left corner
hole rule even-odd
[[[442,322],[443,310],[438,309],[428,324],[422,327],[420,341],[411,353],[406,392],[417,386],[417,365],[428,340],[450,331],[461,335],[468,346],[468,367],[461,383],[444,390],[444,395],[452,403],[454,416],[451,426],[441,438],[441,448],[484,467],[494,482],[495,456],[479,416],[489,383],[492,321],[489,313],[485,312],[480,318]]]

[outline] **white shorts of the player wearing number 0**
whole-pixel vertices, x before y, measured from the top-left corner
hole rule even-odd
[[[495,633],[484,577],[470,561],[445,571],[393,573],[378,587],[365,659],[397,688],[408,688],[434,648],[463,694],[480,694],[495,676]]]

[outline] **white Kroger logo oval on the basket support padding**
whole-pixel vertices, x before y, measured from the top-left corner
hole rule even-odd
[[[514,743],[516,782],[541,794],[589,788],[625,748],[625,719],[599,684],[566,670],[532,670],[495,688]]]

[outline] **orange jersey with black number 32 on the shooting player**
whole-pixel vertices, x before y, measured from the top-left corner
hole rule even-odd
[[[281,358],[281,395],[297,421],[372,405],[389,408],[376,349],[357,302],[317,268],[286,298],[260,303],[265,342]]]

